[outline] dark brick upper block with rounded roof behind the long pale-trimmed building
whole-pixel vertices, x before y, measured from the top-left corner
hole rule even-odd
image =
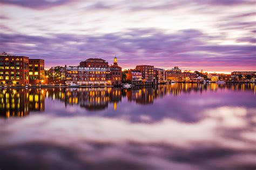
[[[80,67],[95,67],[95,68],[107,68],[109,67],[109,63],[103,59],[87,59],[85,61],[80,62]]]

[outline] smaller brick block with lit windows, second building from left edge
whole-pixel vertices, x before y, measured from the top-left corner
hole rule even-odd
[[[44,79],[44,60],[29,59],[29,80]]]

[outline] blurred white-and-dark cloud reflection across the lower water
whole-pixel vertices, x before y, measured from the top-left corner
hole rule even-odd
[[[206,118],[197,123],[170,118],[130,123],[116,118],[48,115],[9,119],[8,124],[1,120],[0,156],[22,157],[21,162],[16,161],[22,166],[23,161],[38,159],[38,164],[46,166],[66,164],[64,169],[86,167],[83,162],[95,169],[117,169],[115,165],[129,169],[242,169],[253,167],[251,160],[256,158],[252,150],[256,140],[247,119],[254,111],[240,107],[204,110]],[[241,123],[234,126],[233,119]],[[230,130],[241,131],[223,135]],[[222,160],[224,164],[219,164]]]

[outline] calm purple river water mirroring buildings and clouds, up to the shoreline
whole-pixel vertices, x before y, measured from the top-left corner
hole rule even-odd
[[[255,92],[0,89],[0,169],[255,169]]]

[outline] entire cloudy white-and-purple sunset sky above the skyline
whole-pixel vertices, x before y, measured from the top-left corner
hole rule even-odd
[[[207,72],[256,71],[256,1],[0,0],[0,51]]]

